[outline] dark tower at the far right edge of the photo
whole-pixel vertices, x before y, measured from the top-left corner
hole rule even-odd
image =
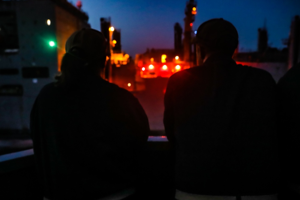
[[[296,15],[292,20],[289,32],[289,59],[288,68],[300,62],[300,17]]]

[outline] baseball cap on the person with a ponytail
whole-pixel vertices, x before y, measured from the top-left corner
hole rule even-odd
[[[94,63],[106,56],[106,39],[104,35],[92,28],[83,28],[75,31],[67,39],[66,52],[72,52],[79,48],[82,52],[82,58],[89,63]]]

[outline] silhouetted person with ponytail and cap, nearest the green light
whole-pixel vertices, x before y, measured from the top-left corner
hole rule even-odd
[[[42,88],[32,108],[44,199],[133,197],[149,123],[130,92],[101,78],[105,49],[101,32],[74,32],[61,76]]]

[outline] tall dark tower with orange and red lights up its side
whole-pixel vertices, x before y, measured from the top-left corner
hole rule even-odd
[[[185,18],[184,18],[184,40],[183,40],[183,50],[184,50],[184,61],[189,63],[191,62],[191,55],[192,55],[192,28],[193,22],[195,21],[195,14],[196,14],[196,1],[190,0],[187,1],[185,7]]]

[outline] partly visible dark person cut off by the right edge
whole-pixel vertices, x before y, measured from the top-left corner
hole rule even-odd
[[[282,199],[300,199],[300,63],[278,82]]]

